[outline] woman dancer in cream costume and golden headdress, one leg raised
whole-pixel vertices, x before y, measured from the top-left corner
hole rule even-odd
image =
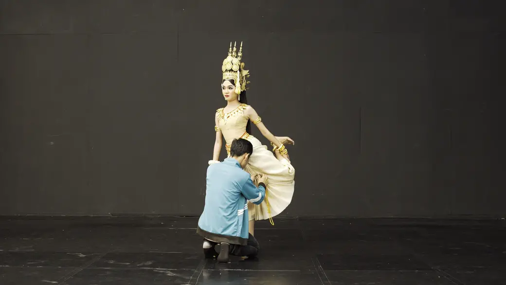
[[[225,148],[230,155],[230,145],[234,138],[244,138],[253,145],[253,153],[245,171],[254,177],[255,174],[264,173],[268,177],[266,198],[260,205],[248,203],[249,232],[254,235],[255,220],[269,219],[274,225],[272,217],[278,215],[291,202],[295,182],[295,169],[290,164],[288,151],[285,145],[293,145],[294,142],[287,136],[274,136],[262,123],[255,109],[246,101],[246,78],[249,77],[248,70],[244,69],[242,58],[242,43],[239,53],[236,54],[236,47],[232,50],[232,43],[228,50],[228,56],[223,61],[222,72],[222,93],[227,101],[225,108],[217,110],[215,115],[216,140],[211,163],[219,162],[222,148],[222,136],[227,144]],[[274,154],[262,145],[260,140],[250,135],[253,122],[262,135],[267,138],[273,146]]]

